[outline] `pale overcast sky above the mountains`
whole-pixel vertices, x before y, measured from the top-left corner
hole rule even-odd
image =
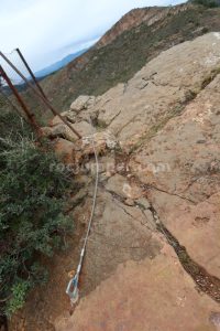
[[[0,0],[0,49],[20,47],[34,71],[91,45],[133,8],[178,0]]]

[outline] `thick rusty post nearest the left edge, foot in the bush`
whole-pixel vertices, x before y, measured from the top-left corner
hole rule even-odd
[[[16,90],[16,88],[13,86],[13,84],[11,83],[10,78],[8,77],[7,73],[4,72],[4,70],[2,68],[2,66],[0,65],[0,75],[2,76],[2,78],[7,82],[8,86],[10,87],[10,89],[12,90],[13,95],[15,96],[15,98],[18,99],[19,104],[21,105],[22,109],[24,110],[31,126],[34,128],[34,130],[36,131],[37,136],[41,136],[41,128],[37,125],[37,122],[35,121],[34,115],[31,114],[30,109],[26,107],[25,103],[23,102],[23,99],[21,98],[19,92]]]

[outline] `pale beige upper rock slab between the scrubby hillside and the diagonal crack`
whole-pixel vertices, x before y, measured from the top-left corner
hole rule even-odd
[[[130,151],[199,93],[220,65],[219,46],[219,34],[211,33],[163,52],[127,84],[98,97],[89,113]]]

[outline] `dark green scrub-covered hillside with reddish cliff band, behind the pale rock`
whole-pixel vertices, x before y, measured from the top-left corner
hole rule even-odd
[[[162,51],[209,31],[220,31],[219,17],[220,8],[189,3],[131,11],[94,47],[41,84],[53,105],[59,111],[66,110],[79,95],[100,95],[128,82]]]

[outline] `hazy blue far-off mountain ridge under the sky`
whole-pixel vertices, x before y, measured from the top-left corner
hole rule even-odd
[[[74,54],[69,54],[67,56],[65,56],[64,58],[62,58],[61,61],[38,71],[35,73],[35,76],[37,78],[41,77],[45,77],[54,72],[57,72],[58,70],[61,70],[62,67],[66,66],[69,62],[74,61],[76,57],[80,56],[81,54],[84,54],[88,49],[81,50],[77,53]]]

